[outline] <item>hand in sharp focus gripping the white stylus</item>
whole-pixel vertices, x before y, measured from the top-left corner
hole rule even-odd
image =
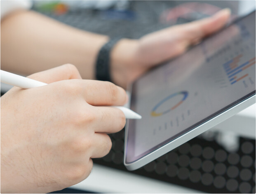
[[[73,65],[29,76],[50,83],[14,87],[1,97],[1,193],[47,193],[89,176],[92,158],[108,154],[106,133],[125,125],[125,91],[82,80]]]

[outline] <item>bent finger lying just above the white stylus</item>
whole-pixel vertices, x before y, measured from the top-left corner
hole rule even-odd
[[[82,79],[75,65],[65,64],[28,76],[30,79],[52,83],[65,79]]]

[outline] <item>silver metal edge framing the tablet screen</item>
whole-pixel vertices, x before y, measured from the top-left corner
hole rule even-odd
[[[255,12],[255,11],[254,11]],[[252,12],[253,13],[253,12]],[[251,14],[251,13],[250,13]],[[249,14],[247,15],[249,16]],[[246,17],[246,16],[244,16]],[[242,17],[242,18],[244,18]],[[241,20],[242,18],[239,18],[237,21]],[[237,22],[235,21],[235,22]],[[235,23],[234,22],[234,23]],[[233,24],[233,23],[232,23]],[[232,25],[231,24],[231,25]],[[225,28],[224,28],[225,29]],[[135,83],[135,82],[134,82]],[[130,88],[130,92],[134,91],[134,88]],[[132,97],[134,97],[134,94],[132,93]],[[229,104],[228,106],[225,106],[223,109],[215,112],[214,114],[208,116],[207,118],[201,120],[200,122],[197,122],[195,125],[192,125],[191,127],[185,129],[187,132],[184,133],[185,130],[180,132],[174,137],[171,137],[166,141],[166,144],[160,146],[157,148],[155,146],[154,148],[151,148],[150,150],[153,151],[146,151],[148,153],[143,153],[139,159],[136,159],[133,162],[127,162],[127,139],[128,139],[128,127],[129,127],[129,120],[126,125],[125,130],[125,140],[124,140],[124,165],[128,170],[136,170],[140,168],[141,166],[144,166],[148,162],[153,161],[154,159],[164,155],[165,153],[175,149],[176,147],[182,145],[183,143],[189,141],[190,139],[193,139],[195,136],[200,135],[201,133],[207,131],[211,127],[214,127],[215,125],[218,125],[220,122],[223,122],[224,120],[230,118],[231,116],[239,113],[240,111],[246,109],[247,107],[251,106],[255,103],[255,90],[246,96],[242,97],[241,99],[238,99],[237,101],[233,102],[232,104]],[[184,133],[184,134],[182,134]]]

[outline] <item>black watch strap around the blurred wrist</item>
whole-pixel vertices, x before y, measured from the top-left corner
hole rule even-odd
[[[116,37],[110,39],[101,47],[96,60],[96,79],[101,81],[111,81],[110,76],[110,53],[113,46],[121,39]]]

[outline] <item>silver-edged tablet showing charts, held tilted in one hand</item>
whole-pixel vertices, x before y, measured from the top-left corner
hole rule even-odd
[[[136,80],[124,165],[135,170],[255,103],[255,11]]]

